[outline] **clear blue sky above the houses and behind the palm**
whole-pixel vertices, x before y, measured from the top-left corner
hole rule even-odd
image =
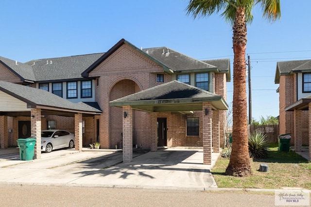
[[[231,26],[217,14],[186,16],[187,4],[188,0],[1,0],[0,56],[27,62],[106,52],[125,38],[138,48],[166,46],[199,60],[230,58],[232,63]],[[276,62],[311,59],[310,8],[310,0],[282,0],[281,20],[273,24],[262,19],[260,8],[253,10],[246,53],[251,57],[252,113],[257,120],[278,116]],[[232,93],[231,81],[228,103]]]

